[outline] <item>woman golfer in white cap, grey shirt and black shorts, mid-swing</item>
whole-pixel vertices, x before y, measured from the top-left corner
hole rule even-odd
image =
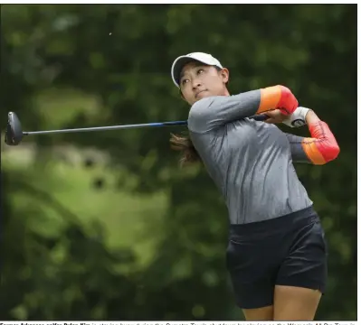
[[[327,280],[318,214],[292,163],[324,164],[339,153],[325,122],[289,88],[230,96],[229,71],[210,54],[178,57],[172,79],[191,106],[190,137],[172,135],[183,163],[200,159],[229,211],[227,268],[246,320],[313,320]],[[267,113],[264,122],[249,116]],[[309,126],[310,137],[273,125]]]

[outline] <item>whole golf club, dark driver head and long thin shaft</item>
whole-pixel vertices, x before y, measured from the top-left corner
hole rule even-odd
[[[250,116],[250,118],[256,121],[264,121],[267,119],[267,115]],[[174,121],[174,122],[157,122],[137,125],[112,125],[112,126],[97,126],[97,127],[84,127],[84,128],[72,128],[63,130],[48,130],[48,131],[32,131],[23,132],[22,125],[19,118],[14,112],[9,112],[7,115],[7,125],[5,132],[5,144],[18,145],[23,140],[24,135],[48,135],[48,134],[62,134],[62,133],[76,133],[76,132],[93,132],[93,131],[109,131],[109,130],[121,130],[137,127],[155,127],[155,126],[172,126],[172,125],[187,125],[187,121]]]

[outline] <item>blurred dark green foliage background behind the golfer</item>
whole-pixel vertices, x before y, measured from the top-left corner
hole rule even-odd
[[[2,5],[1,21],[2,320],[242,320],[223,200],[169,148],[184,127],[4,144],[8,111],[28,131],[186,119],[170,67],[191,51],[233,94],[286,85],[336,135],[336,161],[296,169],[329,247],[317,320],[356,320],[356,5]]]

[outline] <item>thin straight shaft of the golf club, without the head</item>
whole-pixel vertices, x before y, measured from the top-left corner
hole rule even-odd
[[[263,121],[267,118],[267,116],[265,115],[250,116],[250,118],[258,121]],[[137,124],[137,125],[82,127],[82,128],[63,129],[63,130],[30,131],[30,132],[23,132],[23,135],[49,135],[49,134],[63,134],[63,133],[77,133],[77,132],[109,131],[109,130],[131,129],[138,127],[160,127],[160,126],[172,126],[172,125],[187,125],[187,121],[159,122],[159,123],[147,123],[147,124]]]

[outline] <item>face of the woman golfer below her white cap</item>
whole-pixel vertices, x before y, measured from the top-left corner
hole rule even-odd
[[[227,69],[217,70],[213,66],[194,61],[183,67],[179,85],[183,98],[192,106],[202,98],[229,95],[226,88],[228,79]]]

